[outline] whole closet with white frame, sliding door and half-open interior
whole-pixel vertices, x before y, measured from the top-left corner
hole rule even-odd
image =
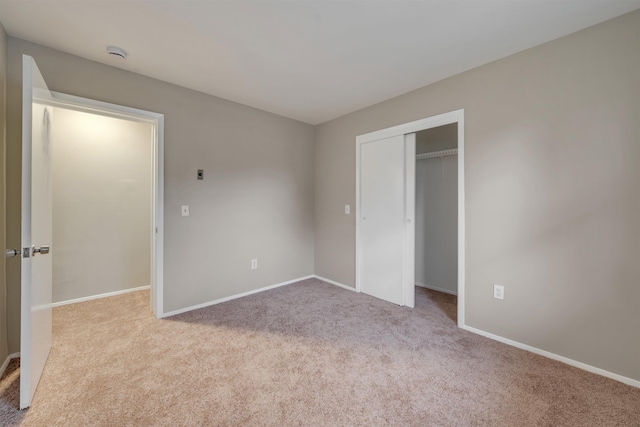
[[[446,311],[463,327],[464,205],[464,110],[358,135],[356,291],[409,308],[416,291],[437,292],[455,300]]]

